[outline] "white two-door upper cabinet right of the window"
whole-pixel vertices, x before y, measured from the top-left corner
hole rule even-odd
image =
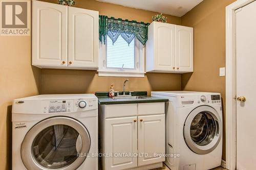
[[[146,72],[193,72],[193,28],[152,22],[146,42]]]

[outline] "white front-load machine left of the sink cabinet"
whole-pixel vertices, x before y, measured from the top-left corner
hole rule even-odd
[[[97,153],[94,94],[37,95],[13,101],[13,170],[97,170]]]

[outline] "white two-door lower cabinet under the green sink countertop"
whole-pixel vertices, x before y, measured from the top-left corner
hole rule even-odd
[[[150,108],[155,104],[146,105]],[[105,154],[101,157],[103,170],[151,169],[160,167],[165,161],[164,103],[159,103],[160,107],[154,111],[156,114],[149,112],[148,115],[144,105],[100,105],[100,153]],[[121,113],[127,110],[129,114]],[[120,112],[120,117],[116,112]]]

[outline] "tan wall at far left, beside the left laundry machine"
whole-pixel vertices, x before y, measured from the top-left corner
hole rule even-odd
[[[4,170],[11,169],[12,100],[39,93],[40,69],[31,66],[31,36],[0,36],[0,61],[0,169]]]

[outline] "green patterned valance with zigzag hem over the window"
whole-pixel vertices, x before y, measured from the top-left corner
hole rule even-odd
[[[122,38],[130,44],[136,37],[143,45],[147,41],[147,27],[150,23],[137,22],[135,20],[122,20],[121,18],[109,18],[105,15],[99,15],[99,40],[105,44],[106,36],[109,36],[113,44],[121,35]]]

